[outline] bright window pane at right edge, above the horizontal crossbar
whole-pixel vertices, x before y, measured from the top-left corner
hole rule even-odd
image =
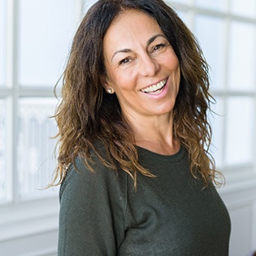
[[[249,91],[256,80],[256,29],[252,24],[232,22],[228,52],[228,87]]]

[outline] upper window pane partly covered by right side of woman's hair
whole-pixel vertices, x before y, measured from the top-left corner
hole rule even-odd
[[[223,89],[225,70],[224,21],[215,17],[197,15],[196,35],[206,57],[206,61],[210,65],[209,73],[213,89]]]

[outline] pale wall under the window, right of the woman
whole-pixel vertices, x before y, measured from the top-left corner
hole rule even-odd
[[[241,173],[241,176],[243,174]],[[247,256],[256,251],[256,176],[232,180],[220,190],[232,221],[231,256]]]

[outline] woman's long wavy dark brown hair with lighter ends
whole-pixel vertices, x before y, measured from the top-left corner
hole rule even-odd
[[[208,65],[202,50],[175,11],[162,0],[100,0],[89,9],[72,42],[63,72],[62,100],[55,119],[59,127],[59,157],[53,184],[61,184],[67,167],[80,156],[92,169],[91,153],[111,169],[121,167],[136,184],[137,173],[153,176],[138,161],[137,147],[122,116],[115,94],[106,93],[103,39],[111,23],[127,10],[153,17],[180,61],[180,90],[174,106],[175,137],[189,152],[190,171],[207,185],[216,181],[214,159],[209,154],[210,109]],[[125,29],[125,28],[124,28]],[[98,146],[104,149],[102,156]]]

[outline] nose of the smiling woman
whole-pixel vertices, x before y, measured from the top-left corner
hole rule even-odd
[[[154,76],[159,70],[159,63],[148,54],[141,57],[140,73],[141,76]]]

